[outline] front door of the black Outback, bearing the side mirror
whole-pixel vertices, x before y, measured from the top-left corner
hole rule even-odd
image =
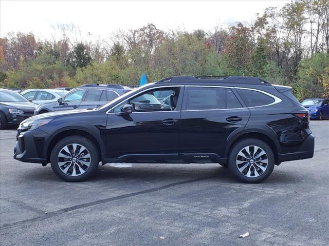
[[[158,90],[172,90],[175,107],[168,109],[134,109],[121,114],[121,107],[144,94]],[[148,89],[122,101],[108,113],[106,124],[107,154],[109,158],[154,159],[178,158],[180,108],[184,87]]]

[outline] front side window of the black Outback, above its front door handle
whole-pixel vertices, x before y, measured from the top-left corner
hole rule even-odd
[[[131,104],[135,112],[155,112],[155,111],[173,111],[177,106],[179,87],[177,88],[166,88],[166,91],[170,91],[170,96],[172,96],[172,101],[167,100],[167,104],[156,98],[155,95],[161,93],[161,89],[149,90],[142,94],[139,94],[129,100],[125,100],[123,103],[118,105],[115,109],[115,113],[121,111],[121,107],[125,104]]]

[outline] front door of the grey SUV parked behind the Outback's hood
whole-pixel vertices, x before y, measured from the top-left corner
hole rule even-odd
[[[66,94],[62,97],[62,103],[57,102],[53,106],[54,111],[78,109],[86,91],[86,89],[79,89]]]

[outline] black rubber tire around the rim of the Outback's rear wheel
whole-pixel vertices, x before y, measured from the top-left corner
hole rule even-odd
[[[245,161],[246,159],[242,160],[242,161],[245,161],[245,162],[243,162],[242,164],[239,164],[239,165],[241,165],[240,168],[243,169],[243,167],[245,165],[248,165],[248,166],[245,169],[243,169],[243,172],[239,171],[239,168],[238,168],[238,165],[237,165],[237,163],[238,163],[237,161],[239,161],[239,160],[237,160],[237,159],[241,158],[241,155],[238,156],[238,154],[244,148],[246,148],[246,147],[248,148],[248,146],[257,146],[266,153],[266,156],[262,155],[262,156],[264,156],[263,158],[267,158],[267,166],[266,166],[265,171],[262,171],[259,168],[259,166],[258,166],[259,162],[256,161],[257,159],[260,159],[261,157],[259,157],[257,159],[254,159],[254,160],[253,160],[253,157],[250,158],[250,160],[252,160],[252,162],[254,164],[251,164],[251,162],[248,161],[248,160]],[[254,147],[251,147],[251,149],[249,149],[249,150],[252,151],[254,149],[255,149]],[[256,153],[258,153],[257,151],[259,151],[258,148],[256,149]],[[254,153],[254,154],[256,154],[256,153]],[[240,162],[242,162],[242,161],[240,160]],[[258,162],[258,164],[257,164],[257,162]],[[264,162],[265,162],[265,160],[264,160]],[[233,174],[233,176],[237,180],[239,180],[241,182],[244,182],[244,183],[259,183],[259,182],[264,181],[265,179],[267,179],[271,175],[271,173],[273,171],[273,168],[274,168],[274,165],[275,165],[275,158],[274,158],[274,155],[273,155],[273,151],[271,150],[271,148],[264,141],[262,141],[260,139],[257,139],[257,138],[248,138],[248,139],[243,139],[243,140],[237,142],[233,146],[233,148],[230,151],[228,163],[229,163],[230,172]],[[260,174],[260,172],[257,172],[257,170],[255,170],[254,167],[258,167],[257,169],[261,172],[261,174]],[[264,167],[262,166],[262,168],[264,168]],[[246,176],[248,174],[248,172],[247,172],[248,170],[251,170],[250,173],[254,175],[253,177]],[[259,175],[259,176],[256,176],[256,175]]]

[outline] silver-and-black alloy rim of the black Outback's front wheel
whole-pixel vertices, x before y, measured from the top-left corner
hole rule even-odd
[[[92,163],[90,153],[80,144],[69,144],[63,147],[57,157],[60,170],[69,176],[85,173]]]

